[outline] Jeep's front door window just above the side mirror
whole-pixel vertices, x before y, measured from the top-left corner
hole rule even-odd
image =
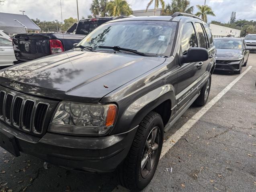
[[[190,47],[197,47],[197,37],[195,34],[195,29],[191,22],[184,25],[182,40],[181,40],[181,51],[185,54]]]

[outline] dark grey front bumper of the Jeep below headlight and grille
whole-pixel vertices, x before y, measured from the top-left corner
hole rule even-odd
[[[0,122],[3,134],[13,135],[20,152],[70,170],[111,172],[127,156],[137,131],[106,137],[77,137],[46,133],[42,138],[28,135]]]

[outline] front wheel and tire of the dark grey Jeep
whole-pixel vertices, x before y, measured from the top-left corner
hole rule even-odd
[[[152,142],[155,133],[156,137]],[[131,191],[139,191],[150,183],[156,172],[163,138],[164,124],[162,118],[158,113],[151,111],[139,124],[131,149],[124,162],[117,169],[117,179],[123,187]],[[154,144],[149,145],[150,142]],[[144,163],[142,164],[142,162]]]

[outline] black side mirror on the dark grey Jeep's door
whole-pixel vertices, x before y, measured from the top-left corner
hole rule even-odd
[[[188,49],[186,55],[182,55],[181,63],[192,63],[207,61],[209,59],[209,53],[205,48],[191,47]]]

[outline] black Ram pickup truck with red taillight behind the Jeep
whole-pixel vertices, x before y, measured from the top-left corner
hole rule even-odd
[[[31,61],[47,55],[68,51],[99,25],[120,17],[100,17],[82,19],[78,22],[75,34],[27,33],[13,37],[13,49],[18,61],[14,64]]]

